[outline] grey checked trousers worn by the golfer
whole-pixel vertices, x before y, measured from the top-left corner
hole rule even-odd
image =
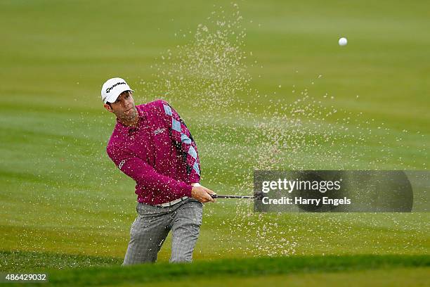
[[[129,247],[122,265],[155,262],[172,231],[170,262],[191,262],[202,224],[203,205],[194,198],[160,208],[138,203],[130,230]]]

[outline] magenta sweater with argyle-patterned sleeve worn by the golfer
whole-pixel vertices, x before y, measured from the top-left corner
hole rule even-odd
[[[107,155],[136,181],[137,200],[155,205],[191,196],[200,181],[197,146],[178,113],[162,100],[136,106],[138,127],[117,125]]]

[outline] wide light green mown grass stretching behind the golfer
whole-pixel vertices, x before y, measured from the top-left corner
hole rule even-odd
[[[115,119],[101,106],[100,86],[118,75],[136,90],[136,103],[159,98],[157,93],[144,94],[141,80],[155,80],[156,71],[150,66],[160,63],[160,53],[190,43],[197,25],[207,23],[211,11],[219,11],[218,6],[233,11],[230,1],[216,1],[216,8],[214,3],[1,1],[0,25],[5,28],[0,46],[0,250],[10,264],[0,269],[122,262],[136,196],[133,181],[105,153]],[[336,117],[324,122],[325,129],[330,131],[331,124],[335,134],[346,138],[339,138],[334,146],[318,145],[315,152],[283,150],[271,155],[268,158],[280,158],[274,169],[298,162],[308,169],[427,170],[428,1],[238,4],[247,28],[243,49],[247,55],[252,51],[245,60],[252,75],[249,85],[260,96],[238,93],[235,99],[240,102],[222,109],[207,108],[210,101],[202,101],[200,94],[191,98],[174,94],[170,101],[197,141],[205,186],[218,193],[251,193],[252,171],[262,153],[259,141],[264,139],[254,124],[270,122],[280,111],[279,103],[292,103],[304,89],[322,101],[320,108],[334,106],[337,117],[351,118],[345,125],[348,132]],[[184,31],[187,37],[181,37]],[[348,38],[342,48],[337,45],[341,36]],[[325,93],[328,98],[323,98]],[[200,101],[203,110],[190,108],[194,101]],[[245,110],[249,114],[242,113]],[[213,122],[214,117],[219,120]],[[358,124],[367,128],[367,136],[355,144]],[[389,130],[378,129],[381,126]],[[306,139],[313,136],[307,134]],[[320,156],[334,151],[342,153],[336,160]],[[348,151],[359,156],[351,158]],[[381,162],[370,165],[375,160]],[[198,264],[264,257],[271,246],[273,255],[286,250],[292,259],[296,255],[429,255],[429,219],[428,213],[258,215],[251,206],[218,200],[204,208],[194,259]],[[283,240],[288,243],[280,243]],[[169,244],[170,238],[159,262],[169,260]],[[413,270],[408,266],[401,272],[409,278]],[[121,272],[126,276],[127,271]],[[373,275],[366,272],[318,276],[335,280],[391,274],[383,269]],[[259,276],[256,280],[266,278]],[[309,282],[308,276],[297,280]],[[274,273],[267,280],[294,278]]]

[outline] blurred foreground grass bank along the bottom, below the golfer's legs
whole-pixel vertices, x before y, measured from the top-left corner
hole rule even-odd
[[[53,286],[425,286],[429,256],[259,257],[194,264],[142,264],[49,270]],[[46,272],[46,270],[45,270]],[[361,285],[358,285],[361,283]]]

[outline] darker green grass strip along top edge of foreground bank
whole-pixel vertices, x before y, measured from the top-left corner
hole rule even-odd
[[[77,259],[77,258],[76,258]],[[259,257],[224,259],[195,264],[142,264],[130,267],[86,267],[48,270],[49,282],[56,286],[114,286],[138,283],[187,283],[200,280],[220,282],[229,276],[261,278],[287,274],[364,272],[374,269],[420,267],[429,270],[428,255],[357,255],[325,257]],[[424,269],[425,268],[425,269]],[[208,280],[211,278],[211,280]],[[418,279],[419,281],[420,279]],[[413,282],[411,282],[412,285]],[[339,283],[335,286],[339,286]]]

